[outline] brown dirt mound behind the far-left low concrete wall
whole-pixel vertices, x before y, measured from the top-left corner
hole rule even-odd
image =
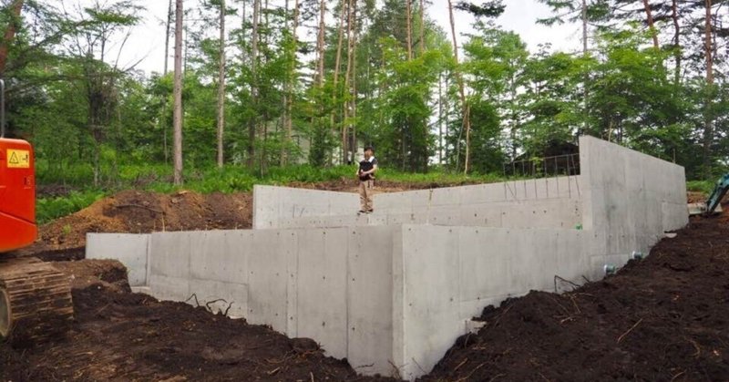
[[[78,259],[87,232],[159,232],[251,228],[252,195],[171,195],[122,191],[84,210],[40,227],[39,241],[25,250],[46,260]]]

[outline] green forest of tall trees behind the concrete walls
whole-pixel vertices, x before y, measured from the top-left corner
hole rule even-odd
[[[486,174],[588,134],[690,179],[726,170],[729,0],[539,2],[552,15],[535,23],[582,27],[579,50],[529,51],[494,22],[508,1],[169,0],[168,57],[185,6],[184,164],[329,167],[373,145],[389,168]],[[139,48],[125,43],[144,5],[4,1],[7,135],[46,171],[90,166],[98,185],[171,166],[171,62],[149,74],[112,53]],[[473,15],[474,32],[438,26],[434,7]]]

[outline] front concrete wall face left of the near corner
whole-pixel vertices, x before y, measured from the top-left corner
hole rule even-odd
[[[130,274],[145,275],[149,293],[161,300],[224,300],[209,306],[313,338],[361,373],[389,375],[395,232],[400,227],[159,232],[137,235],[149,248],[113,257]],[[98,243],[122,243],[118,235],[88,237],[95,243],[89,258],[98,257]]]

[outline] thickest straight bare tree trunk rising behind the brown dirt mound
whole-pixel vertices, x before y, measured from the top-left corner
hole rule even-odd
[[[174,183],[182,184],[182,0],[175,7]]]

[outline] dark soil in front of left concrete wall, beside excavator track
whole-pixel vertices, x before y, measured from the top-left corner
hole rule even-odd
[[[18,353],[0,346],[0,380],[387,381],[357,377],[312,340],[101,286],[74,290],[66,340]]]

